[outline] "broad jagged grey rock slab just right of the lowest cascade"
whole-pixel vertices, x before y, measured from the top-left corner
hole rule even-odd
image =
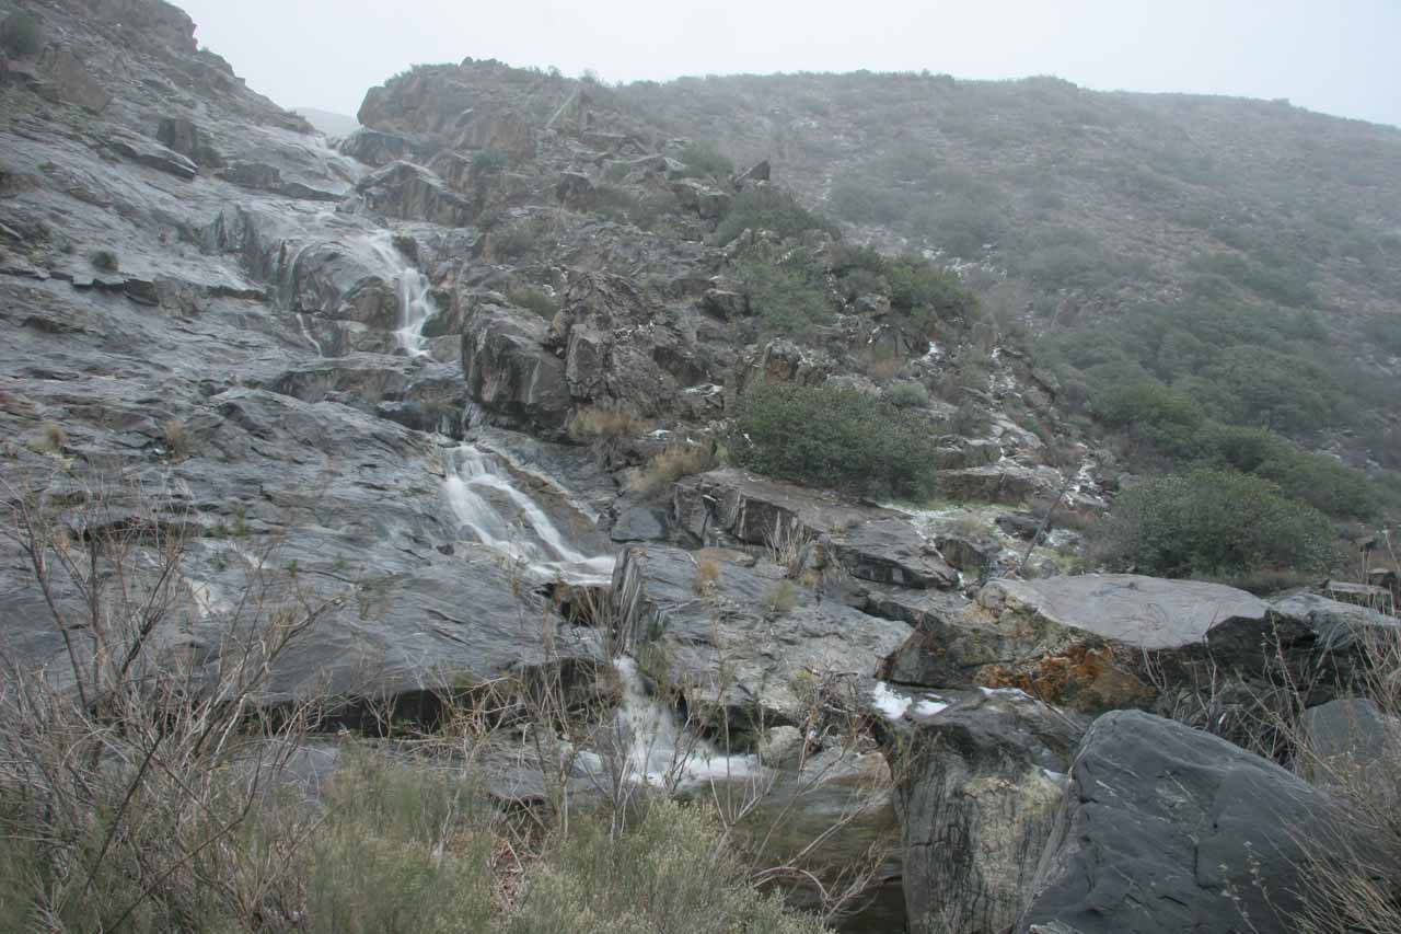
[[[804,687],[824,677],[869,690],[905,637],[904,624],[822,599],[773,564],[713,554],[628,546],[609,600],[619,647],[733,742],[803,722]]]

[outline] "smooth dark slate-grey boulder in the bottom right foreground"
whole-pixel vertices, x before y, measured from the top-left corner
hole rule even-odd
[[[1090,726],[1019,934],[1286,931],[1330,802],[1279,766],[1181,724]]]

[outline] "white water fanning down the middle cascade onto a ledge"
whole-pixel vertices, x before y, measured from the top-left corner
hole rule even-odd
[[[504,463],[474,445],[446,453],[443,498],[476,541],[542,576],[607,583],[612,555],[586,555],[545,510],[516,488]]]

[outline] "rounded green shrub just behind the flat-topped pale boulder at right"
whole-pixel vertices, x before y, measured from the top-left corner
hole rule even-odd
[[[1317,509],[1268,480],[1212,467],[1125,489],[1107,541],[1111,560],[1170,578],[1327,571],[1334,558],[1332,527]]]

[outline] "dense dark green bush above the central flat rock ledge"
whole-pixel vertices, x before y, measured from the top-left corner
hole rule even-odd
[[[743,467],[811,487],[912,499],[933,488],[927,421],[846,387],[750,388],[729,447]]]

